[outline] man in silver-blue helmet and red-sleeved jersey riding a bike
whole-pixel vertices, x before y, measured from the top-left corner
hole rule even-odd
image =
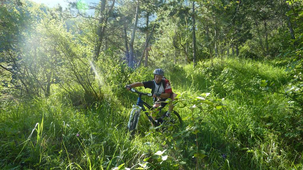
[[[167,103],[165,100],[171,98],[171,101],[175,100],[177,94],[173,93],[171,90],[171,85],[168,79],[164,77],[164,71],[162,69],[155,69],[154,72],[154,80],[147,81],[147,82],[135,82],[130,85],[125,85],[127,90],[130,90],[133,87],[140,87],[144,86],[144,88],[150,88],[151,94],[153,94],[153,107],[157,108],[161,105],[164,107]],[[171,104],[166,112],[165,116],[169,116],[172,109],[174,108],[173,104]],[[151,117],[155,120],[156,117]]]

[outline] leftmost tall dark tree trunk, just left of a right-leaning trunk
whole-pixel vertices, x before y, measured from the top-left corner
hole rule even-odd
[[[94,59],[98,60],[98,56],[100,53],[100,48],[101,48],[101,44],[102,44],[102,28],[103,28],[103,21],[104,21],[104,10],[105,10],[105,4],[106,4],[106,0],[100,0],[101,2],[101,8],[100,8],[100,13],[99,13],[99,21],[98,21],[98,30],[97,30],[97,35],[98,35],[98,40],[96,42],[96,47],[95,47],[95,54],[94,54]],[[93,59],[93,60],[94,60]]]

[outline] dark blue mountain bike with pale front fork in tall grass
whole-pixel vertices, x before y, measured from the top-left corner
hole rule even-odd
[[[170,115],[167,115],[166,112],[161,115],[161,110],[162,110],[161,106],[158,108],[152,107],[141,99],[142,96],[152,97],[152,94],[142,93],[142,92],[135,90],[134,88],[131,88],[129,91],[135,92],[139,95],[138,99],[137,99],[137,103],[132,106],[132,111],[130,113],[129,120],[128,120],[127,127],[128,127],[128,131],[131,132],[131,135],[134,135],[135,129],[138,128],[138,121],[140,118],[141,111],[143,111],[145,113],[145,115],[148,117],[148,120],[152,123],[152,125],[154,127],[158,127],[159,125],[167,125],[167,126],[179,125],[179,127],[182,126],[182,119],[181,119],[181,116],[178,114],[178,112],[172,110]],[[148,113],[148,111],[150,111],[151,109],[159,109],[158,115],[161,115],[161,116],[157,116],[156,120],[154,120],[149,115],[150,113]]]

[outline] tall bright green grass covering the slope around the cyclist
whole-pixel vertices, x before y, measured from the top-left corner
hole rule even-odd
[[[198,133],[199,148],[207,154],[199,167],[302,168],[301,153],[296,151],[300,146],[293,147],[300,143],[284,137],[291,131],[287,124],[291,118],[286,117],[291,113],[287,99],[273,93],[282,91],[287,83],[284,69],[272,64],[274,61],[217,59],[215,63],[214,68],[206,63],[195,70],[190,65],[176,67],[167,76],[174,91],[188,91],[191,95],[211,92],[212,96],[225,98],[227,107],[207,114],[206,125]],[[275,85],[265,91],[260,88],[263,79]],[[149,122],[143,116],[137,135],[128,139],[126,121],[136,95],[108,92],[106,100],[90,110],[63,104],[68,101],[62,96],[58,93],[1,111],[0,168],[111,169],[122,163],[131,168],[157,150],[168,149],[163,143],[165,134],[145,136]],[[186,108],[175,110],[183,117],[190,112]],[[182,152],[168,152],[174,159],[185,160],[187,166],[179,166],[181,169],[195,168],[195,159],[189,156],[194,140],[190,135],[180,146]],[[155,165],[156,169],[178,169],[170,166],[170,160]]]

